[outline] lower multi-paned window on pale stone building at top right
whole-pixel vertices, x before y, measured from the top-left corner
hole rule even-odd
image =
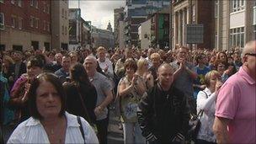
[[[244,27],[230,29],[230,44],[232,46],[244,46]]]

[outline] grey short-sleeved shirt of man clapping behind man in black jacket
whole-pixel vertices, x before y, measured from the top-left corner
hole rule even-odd
[[[173,61],[171,65],[173,66],[174,71],[179,69],[178,61]],[[195,67],[191,63],[186,62],[185,65],[186,67],[189,67],[190,70],[195,72]],[[189,72],[186,70],[179,73],[179,76],[174,80],[173,85],[182,91],[187,97],[193,97],[193,78],[190,77]]]

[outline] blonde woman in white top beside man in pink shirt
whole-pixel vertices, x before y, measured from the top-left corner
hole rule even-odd
[[[216,136],[212,131],[212,125],[215,118],[216,93],[221,88],[221,74],[217,71],[211,71],[205,74],[206,88],[197,94],[197,112],[203,110],[200,119],[200,131],[195,143],[213,144],[216,143]]]

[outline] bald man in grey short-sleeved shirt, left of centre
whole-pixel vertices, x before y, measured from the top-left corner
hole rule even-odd
[[[88,73],[88,77],[97,91],[97,104],[94,109],[96,115],[96,125],[99,135],[99,143],[107,143],[108,135],[108,109],[107,106],[113,99],[112,85],[108,77],[96,71],[97,59],[94,56],[87,56],[83,62],[83,67]]]

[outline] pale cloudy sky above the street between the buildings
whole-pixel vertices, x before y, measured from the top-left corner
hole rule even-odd
[[[82,18],[99,29],[107,29],[109,22],[114,29],[114,9],[120,7],[125,7],[125,0],[80,0]],[[78,0],[69,0],[69,8],[78,8]]]

